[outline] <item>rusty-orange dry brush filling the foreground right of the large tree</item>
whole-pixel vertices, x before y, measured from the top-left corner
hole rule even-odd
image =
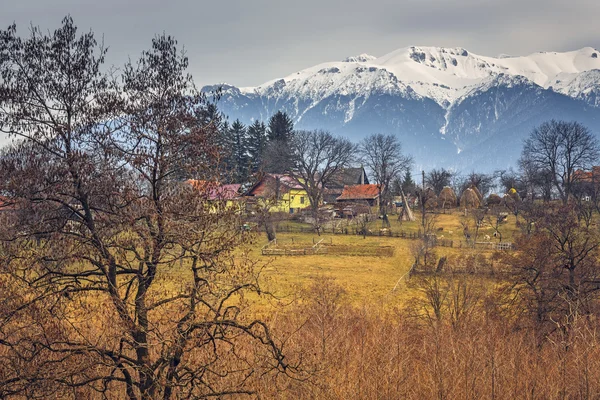
[[[334,283],[318,283],[324,287],[313,289],[315,300],[277,321],[278,330],[301,326],[286,349],[313,374],[285,386],[262,382],[261,396],[559,399],[600,393],[594,323],[574,317],[568,332],[557,330],[540,343],[535,330],[515,329],[514,315],[490,310],[498,293],[468,277],[438,278],[446,306],[436,323],[405,310],[351,307]]]

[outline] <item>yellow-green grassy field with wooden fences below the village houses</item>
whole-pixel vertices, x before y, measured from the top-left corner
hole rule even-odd
[[[417,232],[421,225],[420,216],[417,221],[400,223],[396,218],[391,218],[391,229],[393,231]],[[454,248],[437,247],[438,256],[460,254],[464,252],[489,252],[486,250],[473,250],[466,248],[461,221],[468,220],[460,212],[449,212],[435,215],[435,231],[438,237],[454,241]],[[472,219],[472,218],[471,218]],[[381,227],[381,221],[373,221],[369,229],[377,232]],[[474,229],[474,228],[470,228]],[[500,226],[503,241],[511,241],[518,231],[514,216]],[[493,227],[482,226],[479,230],[478,240],[483,240],[485,235],[492,236]],[[264,270],[266,288],[285,298],[292,298],[301,293],[303,288],[311,285],[315,278],[330,277],[341,285],[347,292],[350,300],[360,305],[361,303],[380,302],[389,305],[398,305],[408,297],[414,295],[411,289],[404,283],[414,259],[411,254],[411,245],[414,240],[390,237],[371,236],[363,239],[357,235],[332,235],[322,234],[317,236],[312,233],[278,233],[279,246],[293,245],[306,247],[312,246],[314,242],[323,239],[323,243],[346,246],[393,246],[395,251],[393,257],[365,257],[365,256],[340,256],[335,254],[309,255],[309,256],[262,256],[260,248],[267,244],[264,234],[253,248],[253,256],[264,260],[268,266]],[[495,238],[492,238],[495,239]],[[495,239],[497,240],[497,239]],[[459,246],[462,246],[459,248]],[[397,285],[402,278],[403,281]]]

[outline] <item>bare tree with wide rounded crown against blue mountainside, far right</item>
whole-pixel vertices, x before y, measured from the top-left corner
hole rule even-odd
[[[598,160],[596,137],[578,122],[549,121],[536,127],[525,141],[519,163],[523,169],[547,170],[563,204],[573,194],[575,171]]]

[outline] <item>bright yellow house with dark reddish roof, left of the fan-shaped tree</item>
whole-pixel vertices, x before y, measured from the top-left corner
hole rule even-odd
[[[294,214],[310,206],[302,185],[295,178],[283,174],[265,174],[248,190],[246,196],[250,202],[261,199],[270,212]]]

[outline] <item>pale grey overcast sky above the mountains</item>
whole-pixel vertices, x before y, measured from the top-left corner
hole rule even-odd
[[[596,0],[0,0],[0,27],[14,21],[23,35],[66,14],[104,36],[115,64],[137,58],[156,33],[174,35],[199,86],[256,86],[410,45],[490,56],[600,48]]]

